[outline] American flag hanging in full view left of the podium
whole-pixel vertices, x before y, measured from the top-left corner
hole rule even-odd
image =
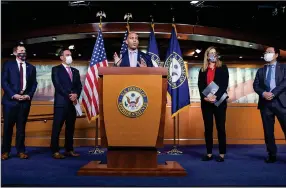
[[[99,29],[82,94],[82,104],[89,122],[96,119],[99,115],[98,67],[107,66],[108,62],[106,59],[102,32],[101,29]]]

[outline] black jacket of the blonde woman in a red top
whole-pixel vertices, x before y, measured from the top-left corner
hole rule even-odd
[[[202,104],[206,104],[206,103],[209,104],[209,102],[206,102],[204,100],[206,96],[204,96],[204,94],[202,93],[204,89],[207,87],[207,72],[208,70],[206,70],[205,72],[202,72],[202,69],[201,69],[199,72],[199,78],[198,78],[198,87],[199,87]],[[215,93],[215,95],[217,96],[216,100],[219,100],[224,93],[227,93],[229,73],[228,73],[228,68],[226,65],[222,65],[221,67],[216,67],[215,77],[213,81],[219,86],[218,91]]]

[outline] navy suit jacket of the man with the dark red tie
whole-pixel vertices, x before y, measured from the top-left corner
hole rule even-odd
[[[31,101],[38,86],[36,67],[26,62],[26,90],[23,95],[29,95],[31,100],[25,100],[25,102],[31,105]],[[12,99],[15,94],[20,94],[22,88],[20,88],[20,70],[16,60],[7,61],[3,64],[1,74],[1,85],[4,91],[2,97],[2,104],[16,105],[19,101]]]

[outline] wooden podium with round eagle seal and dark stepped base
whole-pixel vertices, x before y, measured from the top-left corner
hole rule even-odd
[[[157,163],[163,147],[166,68],[99,68],[101,146],[107,164],[91,161],[78,175],[185,176],[175,161]]]

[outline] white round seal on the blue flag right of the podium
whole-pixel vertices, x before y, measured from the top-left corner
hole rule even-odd
[[[186,67],[183,58],[177,54],[172,53],[164,65],[168,68],[168,83],[172,89],[180,87],[186,80]]]

